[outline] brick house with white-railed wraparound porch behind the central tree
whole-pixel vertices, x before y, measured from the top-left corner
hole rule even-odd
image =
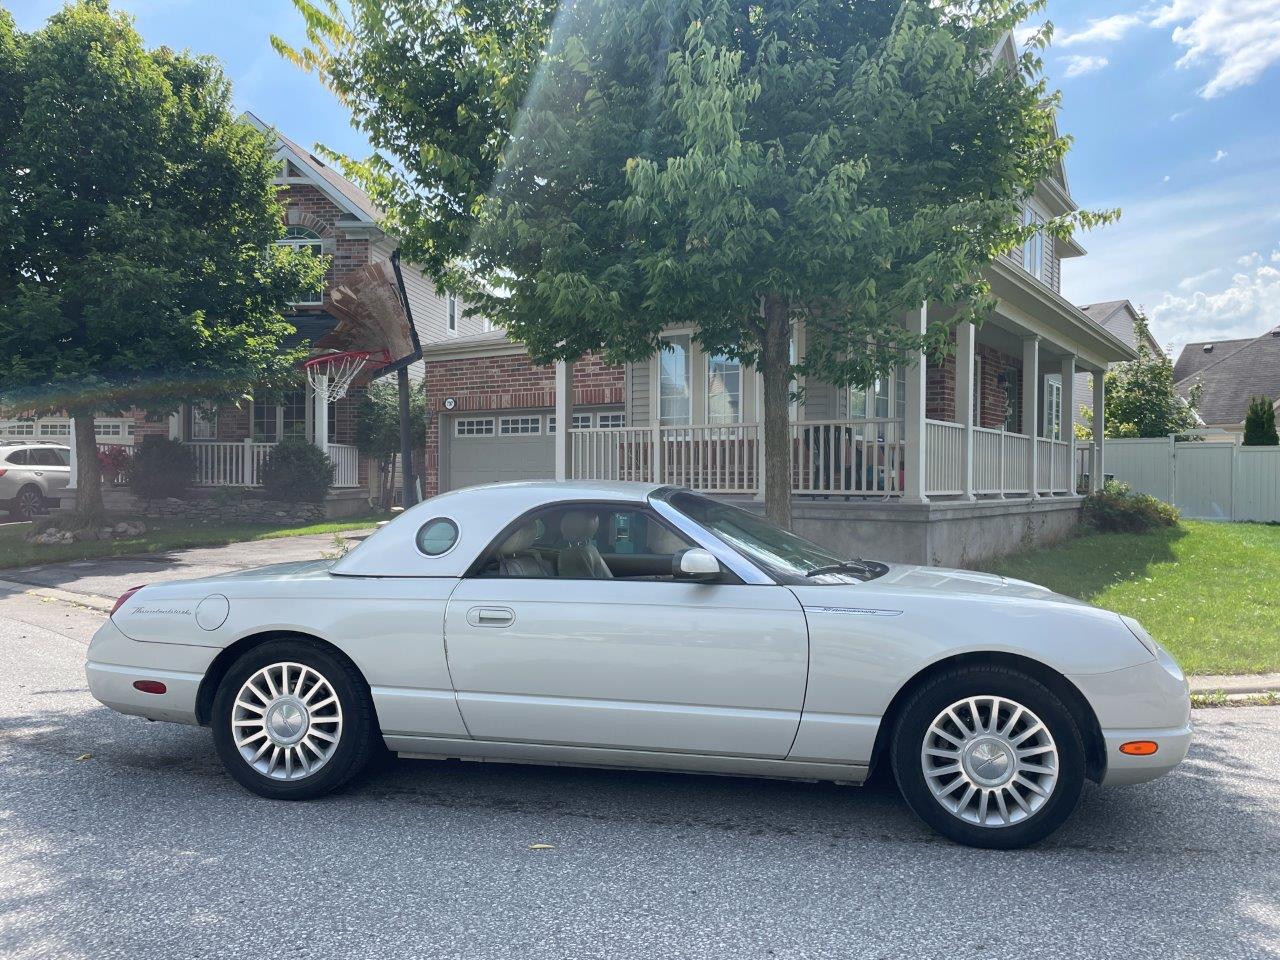
[[[1024,223],[1076,210],[1066,173],[1027,197]],[[841,550],[964,564],[1048,541],[1079,518],[1102,477],[1103,416],[1078,448],[1082,376],[1102,411],[1111,364],[1130,343],[1061,294],[1073,241],[1037,233],[987,270],[996,310],[956,332],[940,364],[904,364],[867,389],[808,381],[791,406],[795,529]],[[923,330],[928,310],[902,317]],[[646,362],[588,358],[534,367],[500,332],[424,343],[433,424],[431,493],[511,479],[641,480],[748,506],[763,499],[763,388],[756,371],[705,355],[691,326],[664,332]],[[805,330],[792,353],[803,358]],[[1083,380],[1083,383],[1089,383]],[[570,429],[557,429],[570,421]]]

